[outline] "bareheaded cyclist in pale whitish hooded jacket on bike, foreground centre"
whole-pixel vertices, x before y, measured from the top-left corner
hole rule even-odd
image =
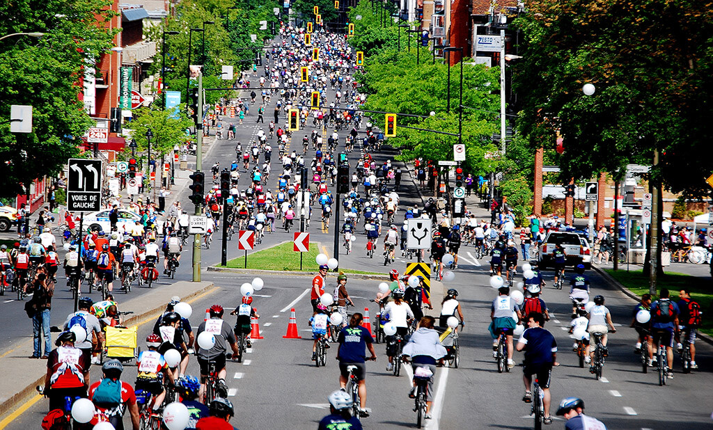
[[[434,330],[436,319],[426,315],[419,321],[419,329],[411,335],[409,342],[404,345],[404,356],[411,357],[411,366],[416,372],[418,367],[427,367],[431,370],[426,389],[426,419],[431,419],[431,406],[434,404],[434,379],[436,375],[436,364],[443,365],[443,357],[448,354],[446,348],[438,340],[438,332]],[[404,357],[404,361],[408,359]],[[414,387],[409,392],[409,397],[416,397],[416,379],[413,380]]]

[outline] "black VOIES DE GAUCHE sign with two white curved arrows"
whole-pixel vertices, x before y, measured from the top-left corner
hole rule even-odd
[[[94,212],[101,209],[101,159],[71,158],[67,164],[67,210]]]

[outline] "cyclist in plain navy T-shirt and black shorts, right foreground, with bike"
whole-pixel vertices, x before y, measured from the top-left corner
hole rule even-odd
[[[552,424],[550,416],[550,379],[552,378],[552,367],[559,366],[557,362],[557,341],[545,325],[545,315],[533,312],[528,315],[528,328],[518,340],[515,347],[518,351],[525,350],[525,361],[523,362],[523,382],[525,384],[525,395],[523,402],[530,403],[533,400],[533,393],[530,391],[532,385],[532,375],[537,377],[537,382],[542,388],[543,407],[545,408],[545,424]]]

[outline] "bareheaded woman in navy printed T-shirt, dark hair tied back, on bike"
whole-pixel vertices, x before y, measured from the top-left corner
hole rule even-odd
[[[366,411],[366,349],[371,352],[369,360],[376,360],[374,352],[374,338],[369,334],[369,330],[361,326],[364,316],[361,313],[354,313],[349,319],[349,325],[339,332],[339,348],[337,349],[337,360],[339,360],[339,387],[344,390],[347,387],[347,377],[349,377],[348,366],[356,366],[354,376],[359,381],[359,414],[362,417],[369,416]]]

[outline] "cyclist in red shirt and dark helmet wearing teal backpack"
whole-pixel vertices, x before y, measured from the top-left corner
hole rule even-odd
[[[139,429],[140,416],[136,394],[130,384],[123,382],[121,373],[124,367],[119,360],[108,360],[101,367],[103,379],[89,388],[89,399],[102,415],[109,417],[109,423],[116,430],[124,430],[123,414],[127,407],[131,416],[133,430]],[[91,424],[96,424],[96,417]]]

